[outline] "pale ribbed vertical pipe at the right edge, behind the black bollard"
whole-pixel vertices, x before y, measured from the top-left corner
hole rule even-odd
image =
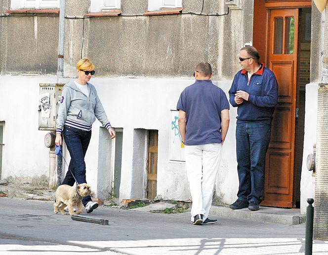
[[[328,85],[318,87],[316,179],[314,197],[315,240],[328,240]]]

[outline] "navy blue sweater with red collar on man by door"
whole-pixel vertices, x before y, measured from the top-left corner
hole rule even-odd
[[[248,101],[237,104],[235,94],[242,90],[249,94]],[[237,123],[272,119],[274,107],[278,102],[278,83],[274,73],[261,65],[261,68],[250,77],[240,70],[229,90],[230,103],[237,109]]]

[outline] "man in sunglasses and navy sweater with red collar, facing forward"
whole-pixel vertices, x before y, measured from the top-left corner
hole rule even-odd
[[[237,109],[236,149],[238,162],[238,199],[232,209],[258,210],[264,190],[265,154],[268,150],[271,121],[278,102],[274,73],[259,62],[254,47],[239,53],[240,70],[229,90],[230,103]]]

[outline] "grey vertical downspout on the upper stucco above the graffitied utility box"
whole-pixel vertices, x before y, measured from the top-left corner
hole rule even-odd
[[[64,76],[65,0],[60,0],[57,80]]]

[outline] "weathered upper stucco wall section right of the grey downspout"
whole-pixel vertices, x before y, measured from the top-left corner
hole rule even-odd
[[[87,2],[67,16],[82,16]],[[75,63],[87,56],[103,77],[190,77],[197,63],[209,61],[214,79],[232,78],[238,51],[252,36],[252,0],[243,2],[243,10],[228,13],[224,2],[205,1],[203,14],[228,13],[222,16],[187,14],[200,13],[201,0],[183,1],[185,14],[133,16],[147,1],[122,1],[123,16],[66,19],[64,75],[74,77]]]

